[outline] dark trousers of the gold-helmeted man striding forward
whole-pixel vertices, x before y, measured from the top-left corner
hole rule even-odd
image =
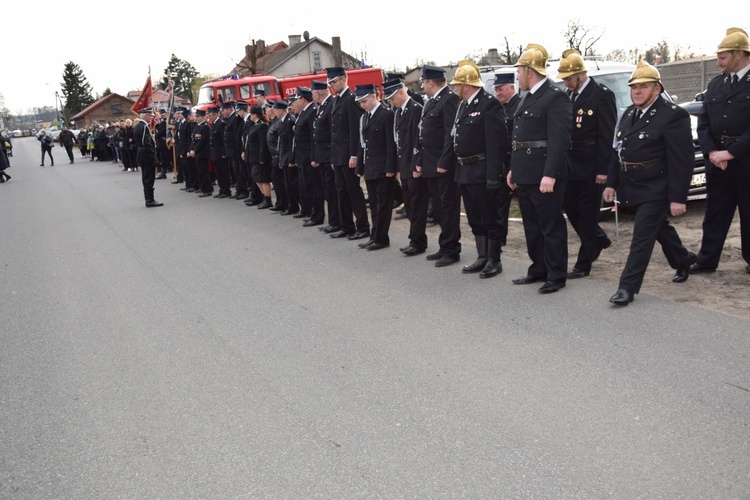
[[[654,251],[654,243],[659,242],[664,256],[672,269],[679,268],[689,252],[682,246],[674,226],[669,223],[667,212],[669,201],[654,200],[641,203],[635,208],[633,222],[633,240],[630,242],[630,253],[625,262],[625,269],[620,275],[620,285],[633,293],[641,290],[646,267]]]

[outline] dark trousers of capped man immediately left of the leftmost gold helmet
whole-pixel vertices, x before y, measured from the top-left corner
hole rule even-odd
[[[461,193],[453,180],[453,172],[429,177],[434,218],[440,224],[438,244],[444,256],[461,254]]]

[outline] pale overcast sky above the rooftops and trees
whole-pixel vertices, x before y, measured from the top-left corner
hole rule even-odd
[[[0,94],[14,114],[54,107],[68,61],[80,66],[94,95],[107,87],[123,95],[142,88],[149,65],[156,80],[173,53],[201,75],[222,75],[232,70],[252,39],[288,42],[289,35],[304,31],[326,42],[339,36],[349,54],[365,54],[372,66],[401,70],[419,60],[447,65],[467,54],[502,50],[505,37],[512,47],[540,43],[550,57],[559,57],[567,48],[562,33],[574,19],[603,33],[596,45],[601,54],[646,49],[667,40],[683,51],[714,55],[726,29],[738,22],[724,13],[742,12],[746,4],[730,1],[727,8],[712,12],[675,0],[410,2],[408,7],[399,2],[284,0],[273,8],[241,0],[231,13],[212,10],[227,5],[205,0],[9,2],[3,6],[0,31]]]

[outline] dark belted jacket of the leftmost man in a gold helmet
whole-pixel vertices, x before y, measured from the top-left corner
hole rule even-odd
[[[456,182],[499,181],[508,147],[507,133],[503,105],[483,88],[470,101],[460,103],[453,134]],[[466,159],[466,163],[462,165],[461,159]]]

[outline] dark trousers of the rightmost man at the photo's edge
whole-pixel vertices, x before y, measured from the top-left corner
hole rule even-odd
[[[735,209],[740,212],[742,258],[750,264],[750,177],[709,173],[706,181],[706,214],[698,264],[713,268],[719,266]]]

